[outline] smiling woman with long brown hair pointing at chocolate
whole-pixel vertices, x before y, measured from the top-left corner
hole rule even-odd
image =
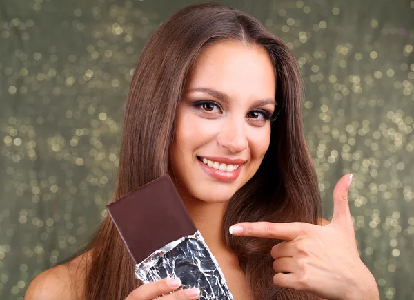
[[[235,300],[379,299],[358,256],[348,175],[334,190],[333,221],[319,226],[301,109],[295,58],[259,21],[212,3],[179,10],[135,68],[114,199],[170,174]],[[179,285],[138,287],[133,274],[107,217],[81,253],[32,281],[26,299],[148,300]]]

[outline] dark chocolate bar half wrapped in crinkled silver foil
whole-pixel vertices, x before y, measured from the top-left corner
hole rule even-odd
[[[107,208],[142,283],[179,278],[179,289],[200,288],[199,299],[233,300],[170,176],[143,185]]]

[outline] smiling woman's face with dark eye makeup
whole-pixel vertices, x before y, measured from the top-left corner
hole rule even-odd
[[[270,142],[275,73],[262,46],[207,46],[186,80],[170,148],[181,196],[224,202],[259,169]]]

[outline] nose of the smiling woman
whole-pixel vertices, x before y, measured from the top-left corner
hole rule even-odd
[[[246,149],[248,142],[244,121],[230,120],[230,122],[226,122],[217,135],[217,143],[232,153],[239,153]]]

